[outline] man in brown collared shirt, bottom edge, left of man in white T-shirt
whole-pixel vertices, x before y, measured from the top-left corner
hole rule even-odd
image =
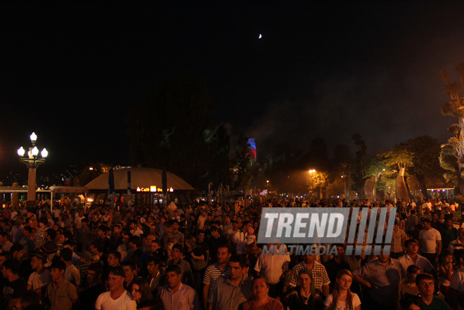
[[[79,297],[75,285],[63,278],[66,264],[64,261],[56,261],[51,264],[51,280],[46,287],[45,298],[49,303],[49,310],[79,309]]]

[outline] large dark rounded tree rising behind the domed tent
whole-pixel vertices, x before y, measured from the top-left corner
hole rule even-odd
[[[146,101],[131,107],[127,122],[134,165],[166,167],[196,188],[206,188],[212,165],[227,165],[220,155],[213,159],[224,149],[212,146],[224,146],[227,138],[224,127],[213,126],[203,79],[189,74],[163,79]]]

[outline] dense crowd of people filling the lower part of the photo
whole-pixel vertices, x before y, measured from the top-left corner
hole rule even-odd
[[[7,204],[0,309],[461,309],[464,228],[446,200],[397,202],[391,250],[378,256],[345,255],[343,244],[331,256],[290,255],[285,245],[272,255],[257,244],[263,207],[374,206],[394,207]]]

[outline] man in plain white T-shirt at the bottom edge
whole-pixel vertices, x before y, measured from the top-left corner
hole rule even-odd
[[[96,310],[136,310],[137,304],[124,289],[125,272],[122,267],[112,267],[108,276],[109,292],[98,295]]]

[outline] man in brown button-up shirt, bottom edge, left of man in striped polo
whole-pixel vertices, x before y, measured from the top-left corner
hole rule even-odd
[[[197,292],[182,283],[179,266],[167,266],[166,280],[167,285],[160,290],[159,295],[165,309],[200,309]]]

